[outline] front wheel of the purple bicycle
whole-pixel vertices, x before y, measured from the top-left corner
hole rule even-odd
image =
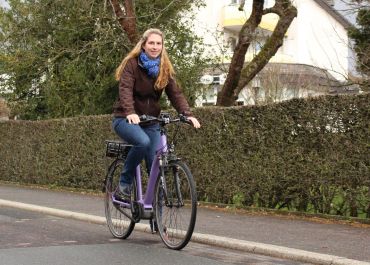
[[[175,161],[165,168],[164,179],[167,195],[159,176],[154,214],[164,244],[170,249],[179,250],[188,244],[194,231],[197,214],[195,182],[189,168],[181,161]]]

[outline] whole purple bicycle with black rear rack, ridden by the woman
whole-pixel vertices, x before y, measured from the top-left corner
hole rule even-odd
[[[106,141],[106,155],[115,160],[108,168],[105,179],[105,216],[110,232],[116,238],[130,236],[135,223],[149,220],[152,232],[159,232],[164,244],[170,249],[185,247],[194,231],[197,214],[195,182],[188,166],[175,154],[174,141],[167,142],[166,125],[190,123],[185,116],[171,118],[161,114],[159,118],[142,116],[142,123],[158,122],[161,130],[160,145],[154,158],[146,191],[143,193],[142,170],[139,165],[130,201],[115,198],[123,163],[130,145],[122,141]],[[178,129],[172,139],[176,139]]]

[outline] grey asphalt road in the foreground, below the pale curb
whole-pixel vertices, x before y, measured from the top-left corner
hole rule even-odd
[[[136,232],[113,238],[103,225],[0,207],[0,264],[308,264],[196,243],[182,251],[164,247],[158,235]]]

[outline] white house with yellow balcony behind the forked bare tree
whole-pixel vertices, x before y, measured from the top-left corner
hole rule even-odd
[[[197,13],[195,32],[208,44],[207,52],[221,56],[221,63],[227,69],[241,26],[250,16],[252,1],[246,1],[243,11],[238,10],[237,0],[205,2],[206,6]],[[351,23],[334,9],[333,1],[293,0],[293,4],[298,15],[286,33],[283,46],[252,84],[240,93],[240,104],[256,104],[258,98],[279,101],[337,93],[338,82],[348,79],[353,69],[353,53],[347,35]],[[266,7],[273,5],[274,0],[265,0]],[[263,16],[246,62],[260,51],[278,19],[275,14]],[[222,70],[210,70],[205,74],[205,80],[210,79],[209,76],[215,78],[205,87],[198,105],[215,103],[225,77]]]

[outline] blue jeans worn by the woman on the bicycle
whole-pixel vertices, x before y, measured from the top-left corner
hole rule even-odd
[[[149,175],[161,136],[159,124],[141,127],[128,123],[125,118],[114,118],[112,126],[121,139],[133,145],[122,168],[120,183],[132,184],[135,169],[143,159]]]

